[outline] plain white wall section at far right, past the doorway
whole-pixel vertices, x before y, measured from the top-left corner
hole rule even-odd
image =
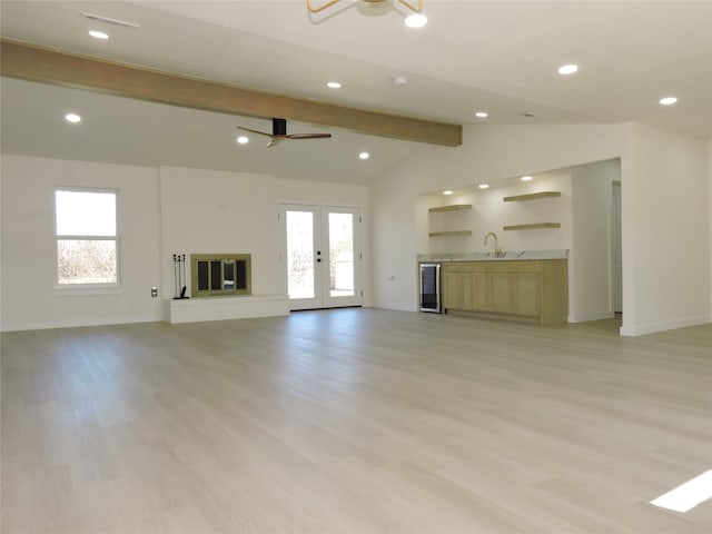
[[[625,129],[621,334],[709,323],[709,142],[637,123]]]

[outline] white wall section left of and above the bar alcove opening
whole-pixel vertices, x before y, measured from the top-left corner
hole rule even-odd
[[[423,146],[369,185],[374,305],[417,309],[416,196],[620,157],[620,125],[465,127],[456,148]]]

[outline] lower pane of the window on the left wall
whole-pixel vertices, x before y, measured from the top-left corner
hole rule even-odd
[[[116,284],[116,240],[58,239],[57,267],[59,284]]]

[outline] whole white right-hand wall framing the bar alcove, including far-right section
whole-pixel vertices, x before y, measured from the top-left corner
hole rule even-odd
[[[462,147],[424,147],[370,185],[374,304],[417,309],[418,194],[621,158],[621,333],[708,323],[710,150],[706,140],[641,125],[467,127]],[[573,287],[586,290],[583,280]],[[575,298],[578,306],[585,293]]]

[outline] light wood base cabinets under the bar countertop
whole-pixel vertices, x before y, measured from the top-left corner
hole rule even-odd
[[[565,323],[567,285],[565,259],[448,261],[443,265],[443,308],[542,325]]]

